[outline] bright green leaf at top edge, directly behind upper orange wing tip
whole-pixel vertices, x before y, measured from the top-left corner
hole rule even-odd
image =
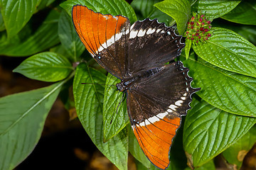
[[[105,0],[68,0],[60,4],[65,11],[71,16],[71,11],[74,5],[80,4],[83,6],[87,6],[92,9],[92,11],[100,12],[103,14],[110,13],[113,16],[122,15],[127,16],[131,23],[137,21],[136,14],[127,1],[124,0],[113,0],[113,1],[105,1]]]

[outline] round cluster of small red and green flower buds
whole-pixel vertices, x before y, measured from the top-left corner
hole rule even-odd
[[[206,42],[211,36],[211,25],[205,15],[193,13],[188,21],[186,29],[186,38],[192,40],[193,43]]]

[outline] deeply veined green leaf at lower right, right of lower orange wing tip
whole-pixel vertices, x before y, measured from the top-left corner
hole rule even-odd
[[[191,108],[186,115],[183,146],[194,167],[233,145],[256,123],[256,118],[230,114],[196,98]]]

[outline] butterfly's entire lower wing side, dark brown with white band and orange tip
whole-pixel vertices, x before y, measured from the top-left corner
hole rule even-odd
[[[166,64],[127,91],[127,108],[135,137],[148,159],[160,169],[169,166],[169,149],[190,108],[188,69],[181,62]]]

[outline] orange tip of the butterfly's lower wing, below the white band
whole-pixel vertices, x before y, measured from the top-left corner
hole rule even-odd
[[[176,134],[181,118],[164,118],[149,125],[134,125],[134,135],[146,157],[160,169],[169,166],[171,140]]]

